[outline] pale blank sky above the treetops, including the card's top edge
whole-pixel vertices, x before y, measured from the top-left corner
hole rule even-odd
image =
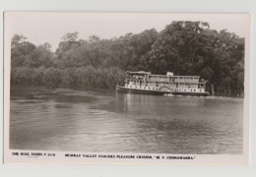
[[[119,37],[128,32],[145,29],[164,29],[172,21],[208,22],[210,29],[227,29],[241,37],[249,26],[244,14],[170,14],[170,13],[38,13],[16,12],[5,14],[8,39],[22,33],[35,45],[49,42],[52,50],[58,47],[67,32],[79,32],[79,38],[88,39],[96,34],[100,38]]]

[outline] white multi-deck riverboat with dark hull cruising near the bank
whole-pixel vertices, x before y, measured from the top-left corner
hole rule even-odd
[[[153,75],[150,72],[126,72],[124,86],[116,86],[118,91],[148,93],[207,96],[206,81],[199,76]]]

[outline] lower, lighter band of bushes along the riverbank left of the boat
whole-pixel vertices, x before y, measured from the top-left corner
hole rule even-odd
[[[96,69],[92,66],[80,68],[17,67],[12,68],[11,83],[26,86],[45,86],[47,88],[115,89],[122,85],[125,72],[119,68]]]

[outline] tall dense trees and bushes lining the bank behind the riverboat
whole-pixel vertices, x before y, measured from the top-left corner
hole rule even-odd
[[[49,43],[35,46],[15,34],[11,48],[11,83],[17,85],[114,89],[125,71],[170,71],[201,76],[215,93],[243,94],[244,38],[210,29],[208,23],[173,22],[160,32],[147,29],[111,39],[67,33],[55,52]]]

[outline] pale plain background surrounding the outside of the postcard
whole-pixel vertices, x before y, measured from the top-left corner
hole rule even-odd
[[[215,0],[215,1],[202,1],[202,0],[179,0],[179,1],[136,1],[130,0],[121,2],[118,0],[112,1],[99,1],[95,0],[87,1],[72,1],[65,0],[60,2],[58,0],[44,0],[35,1],[28,0],[24,1],[1,1],[0,9],[3,11],[87,11],[87,12],[193,12],[193,13],[251,13],[252,19],[256,16],[255,3],[253,0]],[[2,19],[1,19],[2,24]],[[255,23],[252,21],[252,42],[251,48],[255,48]],[[0,29],[2,32],[2,29]],[[2,36],[0,37],[2,39]],[[1,47],[2,53],[2,47]],[[251,58],[255,58],[255,52],[251,51]],[[0,64],[2,65],[2,62]],[[251,68],[255,67],[255,61],[251,60]],[[1,73],[2,74],[2,73]],[[251,70],[251,76],[255,75],[255,70]],[[3,77],[1,77],[3,79]],[[2,82],[1,82],[2,83]],[[251,83],[251,90],[255,90],[255,84]],[[251,92],[251,105],[255,105],[255,93]],[[1,106],[2,107],[2,106]],[[8,176],[38,176],[37,172],[44,170],[44,173],[40,173],[39,176],[46,175],[57,175],[59,172],[62,176],[80,175],[85,170],[87,171],[87,176],[169,176],[169,175],[182,175],[182,176],[198,176],[198,175],[208,175],[208,176],[253,176],[255,175],[255,135],[256,130],[253,125],[255,124],[255,110],[251,109],[251,119],[250,119],[250,165],[247,167],[210,167],[210,166],[188,166],[188,167],[166,167],[166,166],[0,166],[0,174]],[[1,126],[2,127],[2,126]],[[2,148],[2,137],[0,138],[0,147]],[[2,154],[2,153],[1,153]],[[186,171],[184,171],[184,169]],[[115,174],[115,175],[114,175]]]

